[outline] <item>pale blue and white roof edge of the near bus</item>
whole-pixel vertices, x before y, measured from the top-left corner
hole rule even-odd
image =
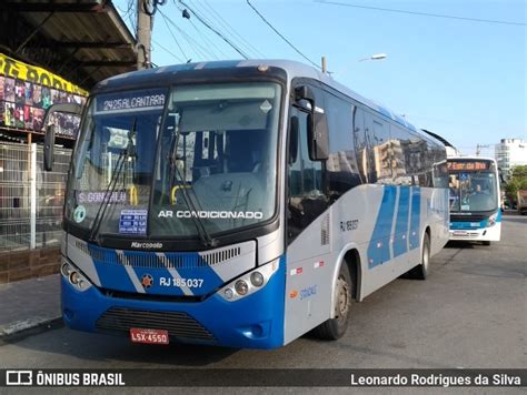
[[[394,120],[395,122],[410,129],[411,131],[417,132],[417,129],[409,123],[401,115],[397,115],[388,108],[376,103],[372,100],[369,100],[359,93],[350,90],[349,88],[342,85],[341,83],[335,81],[328,74],[301,62],[291,61],[291,60],[276,60],[276,59],[247,59],[247,60],[227,60],[227,61],[210,61],[210,62],[197,62],[197,63],[183,63],[183,64],[173,64],[173,65],[163,65],[155,69],[132,71],[125,74],[119,74],[111,77],[107,80],[99,82],[96,89],[108,89],[108,88],[122,88],[123,84],[135,84],[140,80],[148,79],[148,77],[153,79],[159,79],[162,77],[170,77],[181,71],[198,71],[198,70],[212,70],[212,69],[232,69],[232,68],[250,68],[268,65],[286,71],[288,80],[291,81],[294,78],[312,78],[321,81],[328,87],[331,87],[344,94],[350,97],[351,99],[361,102],[362,104],[369,107],[376,112],[384,114],[385,117]]]

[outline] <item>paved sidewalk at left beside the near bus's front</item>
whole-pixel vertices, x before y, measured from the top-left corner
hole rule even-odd
[[[59,276],[0,284],[0,338],[60,318]]]

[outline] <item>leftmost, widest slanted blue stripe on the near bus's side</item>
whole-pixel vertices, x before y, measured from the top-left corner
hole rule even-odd
[[[368,246],[368,267],[372,269],[390,260],[390,233],[397,196],[396,186],[384,186],[382,202]]]

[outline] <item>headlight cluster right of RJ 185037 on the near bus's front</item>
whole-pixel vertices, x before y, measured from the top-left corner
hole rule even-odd
[[[225,285],[218,294],[228,302],[235,302],[258,292],[266,286],[272,274],[278,271],[279,263],[280,260],[276,259],[256,267],[253,271]]]

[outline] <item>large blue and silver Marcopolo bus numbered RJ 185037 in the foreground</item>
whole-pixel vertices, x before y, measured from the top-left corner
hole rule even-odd
[[[336,340],[448,241],[444,145],[290,61],[100,82],[66,194],[63,320],[132,342]]]

